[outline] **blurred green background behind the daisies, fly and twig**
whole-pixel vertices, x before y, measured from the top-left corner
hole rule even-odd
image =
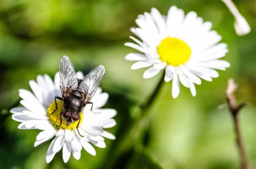
[[[241,111],[241,129],[251,168],[256,168],[256,1],[236,0],[252,31],[238,37],[234,18],[221,1],[211,0],[0,0],[0,168],[238,168],[232,119],[226,102],[227,79],[238,82],[238,101],[250,107]],[[136,107],[154,91],[160,74],[143,79],[144,70],[130,70],[125,54],[135,50],[130,27],[144,11],[156,7],[166,15],[171,5],[196,11],[222,35],[231,67],[220,71],[213,82],[197,86],[197,96],[181,88],[171,97],[171,82],[165,83],[143,123],[145,135],[133,139],[129,129],[139,117]],[[116,140],[106,140],[96,156],[85,150],[79,161],[63,163],[59,152],[50,164],[45,156],[50,141],[34,148],[39,131],[20,130],[9,108],[19,101],[18,89],[30,89],[37,74],[54,76],[61,56],[71,58],[75,69],[85,74],[103,64],[106,76],[101,87],[110,97],[106,107],[117,109],[117,126],[109,131]],[[17,104],[16,104],[17,105]],[[146,126],[146,127],[145,127]]]

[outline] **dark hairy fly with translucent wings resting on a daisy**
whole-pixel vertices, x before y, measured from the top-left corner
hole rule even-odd
[[[55,97],[55,111],[57,110],[56,99],[63,103],[63,111],[60,114],[61,123],[63,119],[66,125],[69,126],[70,123],[78,121],[77,127],[79,126],[80,113],[86,105],[92,104],[90,100],[96,93],[104,74],[105,68],[100,65],[84,76],[83,79],[79,79],[69,57],[63,56],[61,58],[59,75],[62,98]]]

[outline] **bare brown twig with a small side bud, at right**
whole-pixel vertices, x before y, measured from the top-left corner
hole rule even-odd
[[[232,119],[234,121],[234,129],[236,133],[236,144],[241,156],[241,168],[249,169],[247,154],[245,152],[245,147],[243,146],[243,140],[241,135],[241,129],[238,121],[238,113],[239,111],[248,105],[248,103],[241,103],[241,105],[236,104],[235,91],[237,89],[237,85],[234,83],[233,79],[228,80],[228,87],[226,90],[226,98],[228,101],[228,106],[230,109],[230,113],[232,115]]]

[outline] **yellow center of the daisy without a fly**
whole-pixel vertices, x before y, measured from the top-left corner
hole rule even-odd
[[[167,64],[179,66],[191,56],[191,48],[183,40],[167,37],[158,46],[160,59]]]

